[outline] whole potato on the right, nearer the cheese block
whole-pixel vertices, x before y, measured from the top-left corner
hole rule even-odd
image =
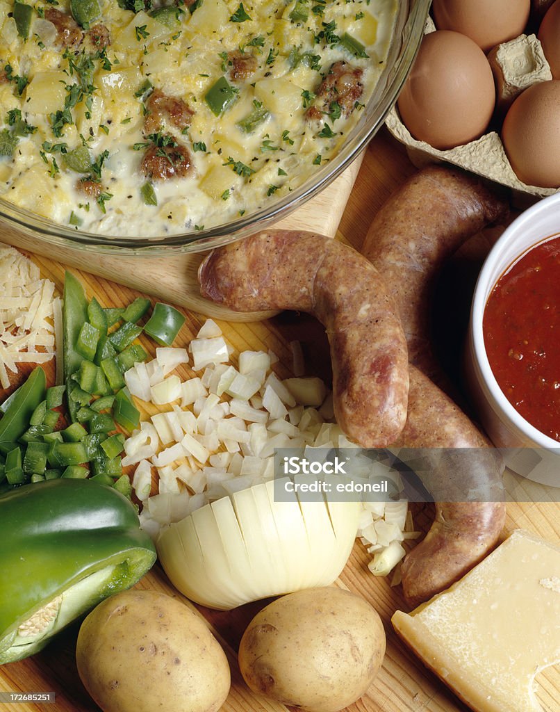
[[[263,608],[245,630],[245,682],[286,705],[337,712],[361,697],[379,671],[385,632],[364,599],[339,588],[290,593]]]

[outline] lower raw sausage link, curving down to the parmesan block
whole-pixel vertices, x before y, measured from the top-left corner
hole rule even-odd
[[[505,521],[503,466],[498,452],[487,445],[458,406],[411,366],[408,417],[396,446],[429,449],[431,472],[423,483],[442,499],[446,488],[451,495],[449,501],[435,503],[433,525],[403,561],[403,592],[413,606],[458,581],[500,537]],[[442,448],[460,450],[453,458]],[[487,501],[457,501],[475,490],[477,499]]]

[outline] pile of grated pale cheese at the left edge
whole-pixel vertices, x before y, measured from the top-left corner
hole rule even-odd
[[[13,247],[0,246],[0,385],[19,363],[45,363],[56,355],[62,305],[55,286]]]

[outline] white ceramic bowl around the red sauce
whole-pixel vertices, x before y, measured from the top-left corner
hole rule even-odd
[[[486,302],[497,280],[530,248],[554,236],[560,236],[560,194],[524,211],[488,254],[472,300],[466,377],[478,417],[492,443],[515,449],[507,453],[508,465],[537,482],[559,487],[560,443],[527,422],[504,396],[490,368],[482,333]],[[522,448],[532,450],[520,451]]]

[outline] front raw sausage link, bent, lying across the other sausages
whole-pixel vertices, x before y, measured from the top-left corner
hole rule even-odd
[[[204,297],[233,310],[315,315],[329,337],[339,425],[364,447],[398,437],[408,394],[403,330],[381,276],[354,249],[312,233],[266,231],[213,251],[199,281]]]

